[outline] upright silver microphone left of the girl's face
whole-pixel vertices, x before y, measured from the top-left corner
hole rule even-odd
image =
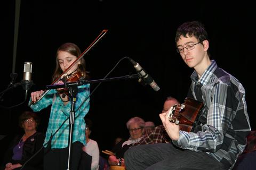
[[[33,85],[33,81],[31,81],[31,73],[32,73],[32,63],[25,62],[24,70],[23,70],[23,80],[21,80],[21,86],[25,92],[25,98],[27,98],[28,90]]]

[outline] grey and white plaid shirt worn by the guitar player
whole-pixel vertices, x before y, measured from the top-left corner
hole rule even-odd
[[[207,119],[202,123],[201,131],[180,131],[179,140],[173,143],[183,149],[204,151],[227,169],[233,167],[251,131],[245,90],[236,78],[218,68],[214,60],[201,78],[198,79],[194,71],[191,80],[189,90],[195,99],[195,86],[202,84],[204,116]]]

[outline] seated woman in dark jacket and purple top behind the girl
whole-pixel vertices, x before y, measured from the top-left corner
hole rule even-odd
[[[39,117],[33,112],[23,112],[20,115],[19,126],[25,133],[14,137],[5,153],[1,169],[20,169],[25,163],[23,169],[43,169],[43,149],[41,148],[45,135],[36,131],[39,122]],[[37,151],[39,152],[35,155]],[[27,162],[32,156],[33,158]]]

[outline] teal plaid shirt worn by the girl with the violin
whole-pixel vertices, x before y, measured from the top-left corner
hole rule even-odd
[[[83,101],[89,97],[90,95],[90,84],[85,84],[83,86],[78,87],[78,93],[76,95],[75,108],[76,109],[83,103]],[[83,106],[79,108],[77,112],[75,112],[75,121],[73,125],[73,141],[82,142],[83,145],[85,143],[85,122],[84,116],[89,112],[89,101],[88,98]],[[31,102],[31,98],[29,103]],[[71,102],[69,102],[66,106],[63,104],[63,101],[59,97],[57,90],[52,89],[47,94],[39,100],[35,105],[31,105],[30,108],[33,109],[34,112],[39,112],[43,108],[52,105],[51,107],[51,115],[49,118],[49,124],[44,140],[44,145],[49,141],[51,135],[53,135],[57,129],[60,128],[61,124],[68,120],[62,125],[60,130],[54,135],[51,142],[51,148],[66,148],[68,147],[68,137],[69,137],[69,114],[71,110]],[[45,145],[44,147],[46,147]]]

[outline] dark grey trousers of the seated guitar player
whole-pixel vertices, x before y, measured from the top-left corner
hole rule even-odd
[[[223,164],[205,152],[181,150],[172,143],[131,147],[124,160],[126,170],[223,169]]]

